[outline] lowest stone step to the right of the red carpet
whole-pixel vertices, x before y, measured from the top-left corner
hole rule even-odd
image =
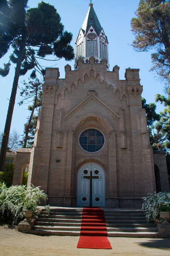
[[[160,238],[158,232],[108,232],[111,237]]]

